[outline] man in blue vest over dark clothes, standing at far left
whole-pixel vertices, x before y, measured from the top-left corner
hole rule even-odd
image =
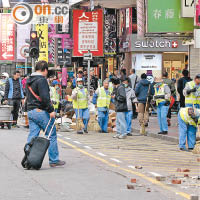
[[[4,99],[5,103],[13,106],[13,126],[19,128],[19,126],[17,125],[18,113],[21,103],[24,104],[24,92],[22,80],[20,79],[20,71],[14,71],[13,77],[7,80]]]

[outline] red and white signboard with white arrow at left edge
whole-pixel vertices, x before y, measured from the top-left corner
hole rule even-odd
[[[0,14],[0,60],[15,60],[15,24],[11,14]]]

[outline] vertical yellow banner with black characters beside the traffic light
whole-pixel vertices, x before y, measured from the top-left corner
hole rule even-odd
[[[40,49],[38,61],[45,60],[48,62],[48,24],[37,24],[36,31],[39,37]]]

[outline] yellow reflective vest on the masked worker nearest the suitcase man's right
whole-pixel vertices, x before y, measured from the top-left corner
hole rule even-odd
[[[74,89],[76,90],[76,89]],[[85,88],[84,93],[78,89],[77,99],[73,100],[73,108],[74,109],[85,109],[88,108],[88,91]]]

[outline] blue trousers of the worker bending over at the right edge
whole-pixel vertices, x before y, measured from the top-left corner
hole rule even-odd
[[[186,138],[188,143],[188,148],[193,149],[196,144],[196,132],[197,128],[186,124],[178,114],[178,125],[179,125],[179,148],[186,148]]]

